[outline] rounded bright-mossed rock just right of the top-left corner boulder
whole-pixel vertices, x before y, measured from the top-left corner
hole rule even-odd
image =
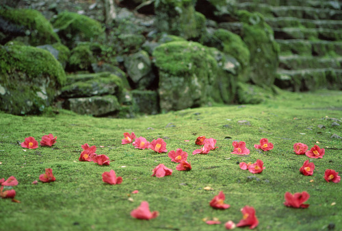
[[[72,49],[76,41],[91,41],[104,36],[101,23],[88,16],[74,12],[62,12],[52,20],[53,27],[63,40],[63,44]]]

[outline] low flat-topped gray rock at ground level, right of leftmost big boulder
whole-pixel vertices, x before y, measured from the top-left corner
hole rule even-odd
[[[66,101],[66,108],[77,114],[101,117],[118,112],[120,104],[114,95],[105,95],[68,99]]]

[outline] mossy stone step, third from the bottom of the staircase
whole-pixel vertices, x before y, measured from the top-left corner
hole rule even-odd
[[[342,42],[324,40],[276,40],[282,55],[296,54],[300,56],[342,56]]]

